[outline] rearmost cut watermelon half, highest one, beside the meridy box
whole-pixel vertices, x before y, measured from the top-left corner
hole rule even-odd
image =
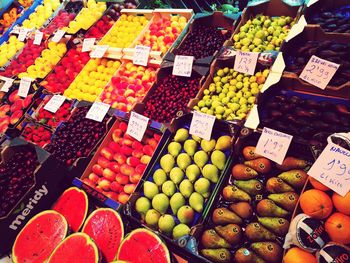
[[[88,206],[86,193],[77,187],[71,187],[64,191],[52,209],[62,214],[72,231],[77,232],[85,221]]]

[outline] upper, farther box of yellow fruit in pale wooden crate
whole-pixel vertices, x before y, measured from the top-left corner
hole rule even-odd
[[[148,20],[144,16],[122,14],[100,44],[116,48],[127,48],[147,23]]]

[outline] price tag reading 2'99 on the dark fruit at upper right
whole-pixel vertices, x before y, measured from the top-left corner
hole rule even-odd
[[[338,68],[339,64],[312,56],[299,78],[320,89],[325,89]]]

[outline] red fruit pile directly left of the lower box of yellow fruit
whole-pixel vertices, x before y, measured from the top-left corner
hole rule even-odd
[[[52,93],[63,93],[89,60],[89,53],[80,47],[70,49],[41,85]]]

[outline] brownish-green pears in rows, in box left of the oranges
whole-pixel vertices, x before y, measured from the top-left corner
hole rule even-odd
[[[201,237],[201,255],[213,262],[282,262],[281,243],[307,180],[307,162],[286,157],[274,165],[243,148],[243,162],[232,167],[231,178]]]

